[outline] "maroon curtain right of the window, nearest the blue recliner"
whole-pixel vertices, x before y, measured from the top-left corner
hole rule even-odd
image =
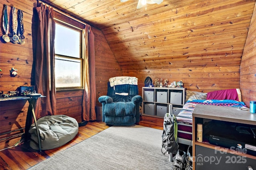
[[[94,34],[90,25],[84,28],[85,57],[84,57],[84,95],[82,104],[83,121],[96,120],[96,79],[95,79],[95,50]]]

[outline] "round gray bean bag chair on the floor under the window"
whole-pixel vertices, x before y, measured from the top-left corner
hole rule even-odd
[[[49,115],[37,120],[42,150],[54,149],[71,141],[78,133],[78,122],[66,115]],[[38,150],[36,126],[30,127],[30,147]]]

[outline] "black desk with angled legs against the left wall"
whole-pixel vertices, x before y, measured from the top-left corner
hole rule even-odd
[[[40,133],[39,133],[38,124],[36,121],[34,106],[36,104],[36,100],[38,98],[43,98],[43,97],[46,97],[46,96],[42,96],[42,95],[39,97],[15,96],[15,97],[9,97],[9,98],[0,98],[0,102],[12,101],[12,100],[28,100],[29,106],[28,106],[28,113],[27,113],[27,117],[26,117],[25,133],[24,133],[24,135],[22,135],[22,138],[20,139],[19,143],[21,143],[22,141],[30,140],[30,134],[28,131],[32,124],[32,117],[33,117],[35,125],[36,125],[37,136],[38,136],[39,151],[42,150],[42,147],[41,147]]]

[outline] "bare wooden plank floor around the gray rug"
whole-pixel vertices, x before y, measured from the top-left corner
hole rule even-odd
[[[139,125],[152,127],[156,129],[163,129],[162,125],[154,125],[150,121],[140,121]],[[37,152],[36,150],[31,149],[28,144],[23,144],[18,147],[11,147],[5,150],[0,151],[0,170],[26,170],[39,162],[54,156],[55,154],[76,145],[84,141],[85,139],[107,129],[106,125],[102,121],[93,121],[88,122],[87,125],[79,127],[78,135],[62,147],[56,149],[44,150],[42,152]]]

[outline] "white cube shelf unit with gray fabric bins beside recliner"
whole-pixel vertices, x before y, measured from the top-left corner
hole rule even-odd
[[[164,117],[169,104],[182,108],[185,104],[186,88],[142,87],[142,115]]]

